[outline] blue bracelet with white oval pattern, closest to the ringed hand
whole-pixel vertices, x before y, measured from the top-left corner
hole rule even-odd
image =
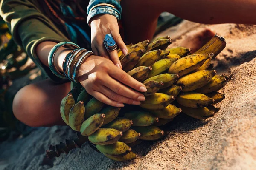
[[[121,19],[121,14],[120,12],[115,9],[115,8],[111,8],[109,6],[99,6],[94,8],[92,11],[90,11],[90,13],[88,14],[87,17],[87,23],[90,26],[90,21],[93,17],[95,17],[96,15],[100,15],[100,14],[109,14],[109,15],[113,15],[116,17],[118,23]]]

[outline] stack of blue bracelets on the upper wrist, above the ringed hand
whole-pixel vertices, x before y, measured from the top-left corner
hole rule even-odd
[[[90,0],[87,7],[87,23],[90,26],[92,18],[100,14],[113,15],[119,23],[121,13],[122,7],[119,0]]]

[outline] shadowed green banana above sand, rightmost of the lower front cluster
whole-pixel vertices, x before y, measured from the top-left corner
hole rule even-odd
[[[141,133],[140,139],[142,140],[157,140],[163,137],[164,131],[156,126],[145,126],[145,127],[132,127],[136,132]]]

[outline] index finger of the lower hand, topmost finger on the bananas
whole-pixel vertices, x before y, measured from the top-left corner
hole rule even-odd
[[[113,67],[113,69],[108,70],[108,74],[119,82],[122,82],[123,84],[128,85],[137,91],[147,91],[145,85],[143,85],[141,82],[138,82],[136,79],[125,73],[125,71],[123,70]]]

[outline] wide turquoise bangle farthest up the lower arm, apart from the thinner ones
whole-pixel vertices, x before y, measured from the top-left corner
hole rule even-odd
[[[73,42],[60,42],[60,43],[56,44],[51,49],[51,51],[49,52],[49,55],[48,55],[49,68],[52,71],[52,73],[55,74],[55,76],[57,76],[61,79],[67,79],[67,77],[64,74],[61,74],[58,71],[58,69],[55,67],[55,65],[54,65],[54,56],[55,56],[55,53],[58,51],[58,49],[60,49],[61,47],[64,47],[64,46],[73,46],[73,47],[76,47],[76,48],[80,48],[78,45],[76,45]]]

